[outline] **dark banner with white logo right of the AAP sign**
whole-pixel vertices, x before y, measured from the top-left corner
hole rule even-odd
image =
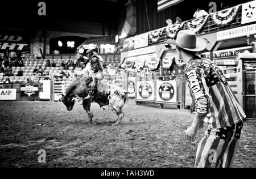
[[[40,84],[23,83],[20,84],[20,97],[39,97]]]

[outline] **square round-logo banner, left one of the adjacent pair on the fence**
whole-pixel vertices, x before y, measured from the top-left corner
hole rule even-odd
[[[136,82],[136,100],[140,101],[154,101],[154,82],[145,81],[145,82]]]

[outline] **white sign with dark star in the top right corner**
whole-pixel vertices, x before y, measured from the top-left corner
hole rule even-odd
[[[256,1],[243,3],[241,24],[246,24],[254,21],[256,21]]]

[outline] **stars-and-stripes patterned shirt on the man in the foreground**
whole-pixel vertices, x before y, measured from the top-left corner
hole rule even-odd
[[[206,114],[204,122],[210,128],[232,126],[246,117],[216,63],[193,57],[184,71],[196,101],[196,112]]]

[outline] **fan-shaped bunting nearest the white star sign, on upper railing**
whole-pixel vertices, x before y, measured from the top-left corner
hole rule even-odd
[[[238,10],[240,10],[241,5],[227,8],[222,11],[212,13],[212,20],[217,25],[226,25],[236,17]]]

